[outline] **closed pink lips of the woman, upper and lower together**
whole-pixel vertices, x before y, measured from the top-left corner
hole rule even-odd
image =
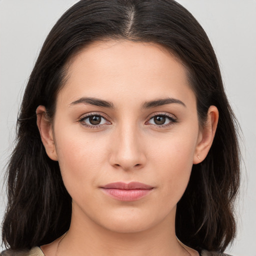
[[[109,183],[101,187],[104,193],[112,198],[121,201],[133,201],[147,195],[153,186],[143,184],[140,182],[124,182]]]

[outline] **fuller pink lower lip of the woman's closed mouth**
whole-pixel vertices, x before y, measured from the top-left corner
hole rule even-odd
[[[134,201],[138,200],[148,193],[151,189],[117,189],[117,188],[101,188],[104,193],[110,197],[120,201]]]

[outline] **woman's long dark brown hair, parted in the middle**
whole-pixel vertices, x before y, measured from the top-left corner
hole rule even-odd
[[[2,239],[12,249],[49,243],[70,224],[71,197],[58,163],[45,153],[35,109],[53,118],[70,57],[95,40],[128,39],[168,48],[187,70],[199,123],[210,105],[219,111],[213,144],[192,166],[177,204],[177,237],[194,249],[223,251],[235,235],[234,199],[239,187],[235,117],[227,101],[213,48],[203,28],[173,0],[81,0],[49,32],[28,80],[17,120],[16,146],[8,164],[8,204]]]

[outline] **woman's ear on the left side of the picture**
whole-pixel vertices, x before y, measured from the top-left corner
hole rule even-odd
[[[45,106],[39,105],[36,108],[36,124],[47,155],[50,159],[57,161],[52,123],[47,118]]]

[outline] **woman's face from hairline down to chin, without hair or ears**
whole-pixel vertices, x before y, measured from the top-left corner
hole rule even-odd
[[[174,222],[201,133],[184,66],[162,46],[107,41],[84,48],[57,95],[52,130],[49,156],[59,162],[72,217],[118,232]],[[131,181],[152,189],[113,196],[102,188]]]

